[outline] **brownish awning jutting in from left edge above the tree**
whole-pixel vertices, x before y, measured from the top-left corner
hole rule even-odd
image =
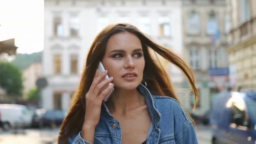
[[[8,53],[9,56],[15,55],[18,47],[15,46],[14,38],[0,41],[0,54]]]

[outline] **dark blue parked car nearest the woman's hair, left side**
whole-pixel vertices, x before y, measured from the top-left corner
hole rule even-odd
[[[43,126],[56,127],[60,126],[66,116],[66,111],[60,109],[47,110],[40,118]]]

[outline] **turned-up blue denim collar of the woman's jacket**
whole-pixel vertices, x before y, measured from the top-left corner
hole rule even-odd
[[[145,97],[145,101],[149,110],[149,115],[151,117],[152,123],[158,127],[158,124],[161,120],[160,112],[155,107],[155,99],[149,90],[142,84],[137,87],[137,90]],[[104,116],[109,120],[114,120],[113,115],[109,112],[106,103],[103,101],[103,107],[101,107],[104,113]]]

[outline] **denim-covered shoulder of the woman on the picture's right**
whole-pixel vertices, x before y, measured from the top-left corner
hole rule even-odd
[[[182,139],[184,131],[193,127],[187,113],[181,107],[181,104],[171,97],[152,96],[155,101],[155,108],[161,117],[159,128],[163,131],[162,137],[173,136],[175,141],[179,141]]]

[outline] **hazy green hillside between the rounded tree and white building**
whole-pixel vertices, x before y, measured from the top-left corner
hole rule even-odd
[[[17,53],[16,58],[12,61],[12,63],[18,66],[21,70],[24,70],[30,64],[36,61],[41,61],[41,59],[42,59],[42,52],[31,53],[31,54]]]

